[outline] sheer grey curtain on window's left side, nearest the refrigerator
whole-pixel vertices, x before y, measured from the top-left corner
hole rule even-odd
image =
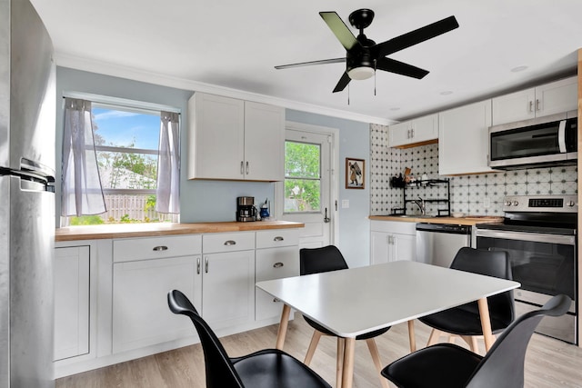
[[[65,98],[61,215],[105,212],[95,154],[91,102]]]

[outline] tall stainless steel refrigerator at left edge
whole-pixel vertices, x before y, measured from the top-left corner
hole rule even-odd
[[[0,0],[0,387],[54,387],[55,65],[28,0]]]

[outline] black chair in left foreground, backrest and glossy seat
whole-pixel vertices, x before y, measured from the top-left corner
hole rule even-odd
[[[229,358],[184,293],[170,291],[167,303],[172,313],[187,315],[196,327],[204,350],[207,388],[331,388],[317,373],[283,351],[266,349]]]

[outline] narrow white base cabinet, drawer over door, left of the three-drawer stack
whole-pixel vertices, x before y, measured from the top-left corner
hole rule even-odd
[[[203,236],[202,316],[218,330],[255,320],[255,233]]]

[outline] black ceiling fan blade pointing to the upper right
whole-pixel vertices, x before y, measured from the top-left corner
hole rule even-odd
[[[425,25],[404,35],[396,36],[386,42],[376,45],[378,56],[386,56],[396,51],[424,42],[435,36],[445,34],[458,27],[455,16],[448,16],[431,25]]]

